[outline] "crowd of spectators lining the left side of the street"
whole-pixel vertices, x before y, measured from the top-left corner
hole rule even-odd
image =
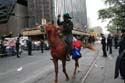
[[[19,36],[16,38],[3,37],[0,41],[0,57],[16,55],[17,58],[20,58],[23,50],[27,50],[28,55],[32,55],[32,50],[41,50],[41,53],[43,53],[44,49],[49,49],[49,46],[42,39],[35,42],[31,40],[31,37],[23,39]]]

